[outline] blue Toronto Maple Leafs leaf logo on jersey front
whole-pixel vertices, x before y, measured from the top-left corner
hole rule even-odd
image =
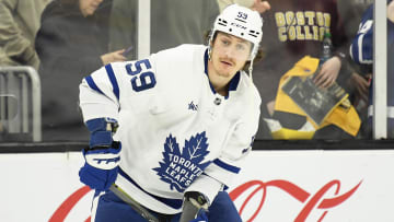
[[[176,138],[171,133],[165,139],[163,161],[159,162],[160,167],[152,168],[160,176],[160,179],[170,184],[171,189],[183,192],[196,177],[202,174],[210,161],[204,161],[209,153],[207,151],[208,138],[206,132],[197,133],[185,140],[185,145],[179,150]]]

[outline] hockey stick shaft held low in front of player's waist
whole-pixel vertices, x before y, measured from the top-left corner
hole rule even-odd
[[[111,185],[109,190],[113,191],[118,198],[128,203],[136,212],[138,212],[148,222],[159,222],[159,219],[150,213],[147,209],[140,206],[136,200],[128,196],[120,187],[116,184]]]

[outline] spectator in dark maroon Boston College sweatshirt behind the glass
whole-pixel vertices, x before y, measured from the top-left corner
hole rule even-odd
[[[347,42],[336,1],[276,0],[269,3],[271,9],[263,13],[262,47],[266,52],[265,59],[256,65],[254,74],[254,82],[263,95],[264,118],[260,118],[260,126],[264,125],[265,119],[269,119],[274,120],[275,125],[279,124],[281,129],[310,130],[313,138],[351,138],[336,125],[316,130],[313,125],[308,124],[305,116],[275,112],[278,105],[276,95],[280,78],[304,56],[321,57],[322,40],[326,31],[332,34],[335,51],[334,56],[323,63],[314,81],[317,86],[325,89],[338,82],[345,54],[348,50],[346,50]],[[265,114],[268,115],[264,116]],[[357,114],[355,118],[358,119]],[[266,133],[262,129],[264,128],[259,129],[256,139],[266,139]]]

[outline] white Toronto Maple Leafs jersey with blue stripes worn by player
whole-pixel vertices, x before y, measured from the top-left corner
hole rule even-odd
[[[229,95],[213,90],[202,45],[114,62],[80,85],[84,121],[111,117],[121,142],[116,184],[142,206],[173,214],[184,191],[213,200],[241,170],[257,131],[260,97],[243,71]]]

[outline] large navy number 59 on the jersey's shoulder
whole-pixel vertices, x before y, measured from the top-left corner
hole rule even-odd
[[[154,87],[155,79],[154,73],[151,72],[151,69],[152,66],[150,65],[148,59],[126,65],[127,73],[132,75],[131,87],[134,91],[140,92]]]

